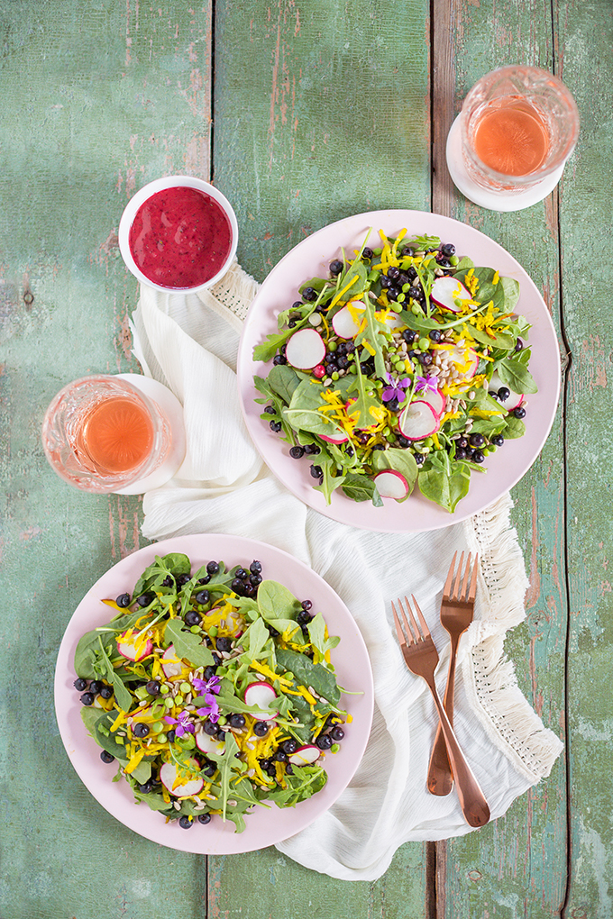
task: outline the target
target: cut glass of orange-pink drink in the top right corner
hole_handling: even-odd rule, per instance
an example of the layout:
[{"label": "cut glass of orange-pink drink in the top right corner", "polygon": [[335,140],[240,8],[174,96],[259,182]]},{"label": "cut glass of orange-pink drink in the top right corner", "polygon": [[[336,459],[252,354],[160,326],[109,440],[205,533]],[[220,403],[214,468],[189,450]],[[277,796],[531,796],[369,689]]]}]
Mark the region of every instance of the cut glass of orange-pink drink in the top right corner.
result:
[{"label": "cut glass of orange-pink drink in the top right corner", "polygon": [[464,99],[460,132],[473,182],[489,191],[522,193],[557,171],[562,175],[577,142],[579,112],[553,74],[539,67],[500,67]]}]

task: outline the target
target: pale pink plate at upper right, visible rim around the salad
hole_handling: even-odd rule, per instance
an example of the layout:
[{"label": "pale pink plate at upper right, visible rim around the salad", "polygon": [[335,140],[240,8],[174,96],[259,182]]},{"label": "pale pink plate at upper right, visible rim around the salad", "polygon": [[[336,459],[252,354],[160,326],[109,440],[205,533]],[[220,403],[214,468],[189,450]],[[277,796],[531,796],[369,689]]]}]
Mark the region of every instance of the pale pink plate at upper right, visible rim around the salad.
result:
[{"label": "pale pink plate at upper right, visible rim around the salad", "polygon": [[[394,236],[405,227],[408,233],[439,236],[444,243],[453,243],[458,255],[468,255],[475,265],[496,268],[501,275],[516,278],[521,287],[517,312],[532,323],[529,344],[532,346],[530,370],[539,392],[528,397],[526,434],[517,440],[507,440],[504,447],[487,458],[487,474],[473,472],[469,494],[460,501],[454,514],[426,501],[416,490],[398,504],[385,499],[383,507],[369,502],[357,503],[340,490],[325,504],[324,495],[312,488],[309,463],[306,459],[291,459],[289,445],[270,431],[260,418],[263,406],[255,403],[260,393],[255,390],[254,376],[266,377],[272,363],[254,361],[255,345],[278,331],[278,312],[286,310],[298,299],[298,288],[313,277],[325,278],[328,265],[340,255],[358,249],[369,228],[370,240],[377,245],[379,230]],[[528,471],[547,439],[553,423],[560,391],[560,355],[551,317],[528,274],[502,246],[460,221],[421,210],[374,210],[347,217],[313,233],[295,246],[268,275],[259,290],[244,322],[238,356],[238,380],[243,412],[249,433],[270,469],[289,491],[305,504],[326,516],[353,527],[384,532],[419,532],[448,527],[483,507],[509,490]]]}]

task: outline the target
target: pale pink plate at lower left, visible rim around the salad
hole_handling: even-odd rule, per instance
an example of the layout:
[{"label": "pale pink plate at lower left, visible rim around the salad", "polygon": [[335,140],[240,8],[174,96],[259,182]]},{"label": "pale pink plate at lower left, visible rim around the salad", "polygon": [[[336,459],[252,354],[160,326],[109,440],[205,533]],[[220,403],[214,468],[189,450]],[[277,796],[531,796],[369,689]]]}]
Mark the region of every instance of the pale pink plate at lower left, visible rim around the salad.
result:
[{"label": "pale pink plate at lower left, visible rim around the salad", "polygon": [[[150,811],[145,804],[137,805],[126,782],[111,781],[117,771],[116,764],[106,765],[100,760],[100,747],[85,731],[81,720],[80,694],[73,686],[77,641],[86,631],[108,622],[112,611],[101,603],[103,598],[131,592],[154,557],[168,552],[184,552],[192,562],[192,571],[211,560],[222,560],[231,567],[245,562],[249,565],[258,559],[265,577],[285,584],[301,599],[311,599],[314,609],[324,613],[330,634],[341,639],[332,652],[338,683],[351,692],[361,693],[343,697],[353,721],[346,729],[340,752],[326,756],[328,782],[324,789],[295,808],[257,807],[245,817],[244,833],[234,833],[234,824],[222,823],[219,817],[214,817],[206,826],[196,823],[191,829],[183,830],[176,822],[165,823],[164,817]],[[116,564],[96,581],[76,608],[64,633],[55,670],[55,711],[62,741],[85,787],[109,813],[136,833],[155,843],[202,855],[250,852],[274,845],[299,833],[327,811],[358,768],[369,739],[372,706],[372,673],[366,645],[356,622],[332,587],[287,552],[254,539],[234,536],[207,534],[165,539]]]}]

